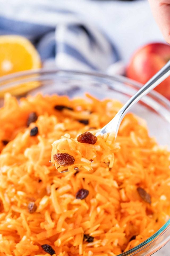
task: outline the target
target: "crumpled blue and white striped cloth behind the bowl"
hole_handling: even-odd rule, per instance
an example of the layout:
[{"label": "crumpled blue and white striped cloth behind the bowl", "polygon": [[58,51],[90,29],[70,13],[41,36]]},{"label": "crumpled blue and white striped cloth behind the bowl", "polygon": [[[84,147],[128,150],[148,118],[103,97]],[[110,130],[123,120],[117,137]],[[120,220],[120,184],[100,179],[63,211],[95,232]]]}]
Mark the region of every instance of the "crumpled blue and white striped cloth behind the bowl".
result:
[{"label": "crumpled blue and white striped cloth behind the bowl", "polygon": [[44,66],[61,69],[107,71],[119,61],[109,38],[78,13],[56,8],[55,1],[21,1],[0,7],[0,34],[20,34],[30,39]]}]

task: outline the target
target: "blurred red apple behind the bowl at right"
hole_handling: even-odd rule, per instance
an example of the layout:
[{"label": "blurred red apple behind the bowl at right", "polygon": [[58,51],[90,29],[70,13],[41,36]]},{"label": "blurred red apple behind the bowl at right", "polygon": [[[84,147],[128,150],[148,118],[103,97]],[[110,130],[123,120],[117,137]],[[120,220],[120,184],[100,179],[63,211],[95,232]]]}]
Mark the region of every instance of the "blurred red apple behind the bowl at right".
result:
[{"label": "blurred red apple behind the bowl at right", "polygon": [[[170,59],[170,45],[150,43],[138,49],[126,68],[126,76],[145,84]],[[170,77],[155,88],[170,99]]]}]

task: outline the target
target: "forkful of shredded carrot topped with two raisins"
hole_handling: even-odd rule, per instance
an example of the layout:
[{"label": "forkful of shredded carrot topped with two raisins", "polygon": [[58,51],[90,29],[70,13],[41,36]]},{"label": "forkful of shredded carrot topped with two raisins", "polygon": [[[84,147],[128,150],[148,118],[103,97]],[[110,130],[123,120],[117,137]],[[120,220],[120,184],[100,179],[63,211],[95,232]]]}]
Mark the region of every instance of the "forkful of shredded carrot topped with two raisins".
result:
[{"label": "forkful of shredded carrot topped with two raisins", "polygon": [[75,139],[71,138],[70,134],[65,134],[61,139],[53,142],[51,162],[59,172],[66,169],[74,171],[75,168],[90,171],[96,162],[109,163],[108,166],[111,168],[114,152],[119,149],[118,143],[114,142],[114,137],[114,133],[96,137],[92,131],[86,131]]}]

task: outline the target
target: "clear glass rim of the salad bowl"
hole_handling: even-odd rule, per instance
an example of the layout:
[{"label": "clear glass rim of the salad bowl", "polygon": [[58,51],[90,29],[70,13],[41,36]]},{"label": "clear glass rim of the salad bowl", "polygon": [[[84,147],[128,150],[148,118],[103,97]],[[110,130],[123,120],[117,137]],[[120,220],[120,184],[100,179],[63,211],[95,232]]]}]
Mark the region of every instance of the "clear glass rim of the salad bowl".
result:
[{"label": "clear glass rim of the salad bowl", "polygon": [[[104,78],[104,79],[108,79],[108,81],[112,81],[112,82],[120,82],[120,83],[127,83],[129,85],[131,85],[135,90],[138,90],[142,84],[139,82],[136,82],[132,79],[126,78],[124,76],[121,75],[107,75],[104,73],[99,73],[99,72],[81,72],[81,71],[76,71],[76,70],[64,70],[64,69],[37,69],[37,70],[27,70],[27,71],[21,71],[21,72],[17,72],[14,74],[9,74],[9,75],[5,75],[2,76],[0,78],[0,91],[10,88],[13,86],[13,82],[18,82],[18,81],[22,81],[22,82],[29,82],[29,81],[38,81],[37,78],[39,77],[43,77],[43,75],[58,75],[58,74],[65,74],[65,75],[83,75],[83,76],[88,76],[91,78]],[[32,78],[33,76],[33,78]],[[37,76],[37,78],[36,78]],[[24,79],[24,80],[22,80]],[[48,77],[48,79],[50,79]],[[51,77],[51,79],[54,79],[54,77]],[[41,80],[43,81],[43,79]],[[110,86],[110,84],[109,84]],[[125,85],[124,85],[125,86]],[[161,94],[159,94],[156,91],[151,91],[148,95],[150,95],[151,97],[153,97],[154,101],[159,101],[159,103],[163,106],[169,109],[170,111],[170,101],[168,99],[166,99],[164,96],[162,96]],[[156,240],[165,233],[165,231],[167,231],[168,229],[170,229],[170,219],[155,233],[153,234],[150,238],[148,238],[147,240],[145,240],[144,242],[140,243],[138,246],[135,246],[134,248],[121,253],[117,256],[133,256],[135,253],[139,253],[140,251],[142,251],[143,249],[145,249],[146,247],[148,247],[149,245],[151,245],[152,243],[156,242]],[[168,239],[166,239],[166,242],[162,241],[162,244],[159,246],[158,249],[160,249],[161,247],[163,247],[168,241],[170,240],[170,236]],[[157,250],[156,250],[157,251]],[[155,253],[155,251],[153,251],[152,253]]]}]

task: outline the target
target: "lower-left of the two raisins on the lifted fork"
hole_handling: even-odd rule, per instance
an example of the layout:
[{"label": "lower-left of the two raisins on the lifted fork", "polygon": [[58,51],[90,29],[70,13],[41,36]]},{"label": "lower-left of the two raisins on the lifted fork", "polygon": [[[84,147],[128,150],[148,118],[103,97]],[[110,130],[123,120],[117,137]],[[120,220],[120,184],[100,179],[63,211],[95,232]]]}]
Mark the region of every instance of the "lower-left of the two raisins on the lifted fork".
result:
[{"label": "lower-left of the two raisins on the lifted fork", "polygon": [[54,160],[61,166],[73,165],[75,159],[72,155],[67,153],[57,153],[54,156]]}]

